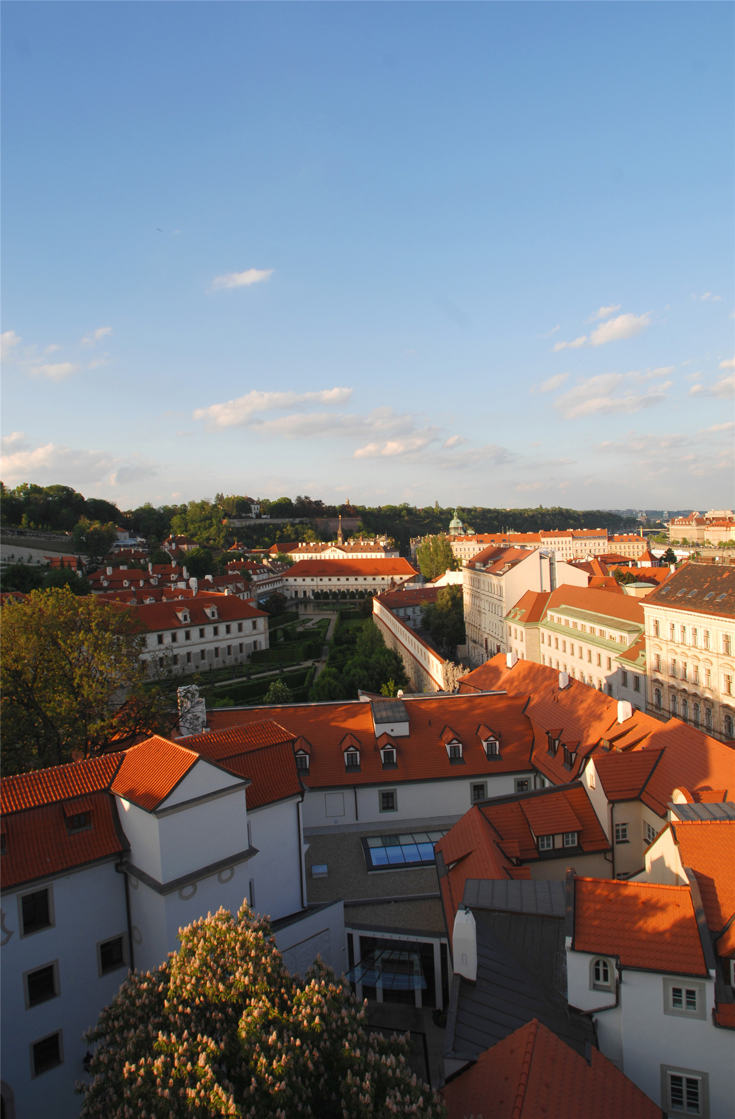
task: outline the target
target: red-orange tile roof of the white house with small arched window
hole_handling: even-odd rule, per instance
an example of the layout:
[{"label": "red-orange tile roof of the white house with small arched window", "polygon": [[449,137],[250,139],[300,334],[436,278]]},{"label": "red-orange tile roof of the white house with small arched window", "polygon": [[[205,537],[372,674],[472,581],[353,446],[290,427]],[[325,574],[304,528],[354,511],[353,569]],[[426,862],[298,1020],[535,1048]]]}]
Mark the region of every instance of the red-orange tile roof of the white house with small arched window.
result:
[{"label": "red-orange tile roof of the white house with small arched window", "polygon": [[574,880],[574,948],[623,967],[707,975],[688,886]]}]

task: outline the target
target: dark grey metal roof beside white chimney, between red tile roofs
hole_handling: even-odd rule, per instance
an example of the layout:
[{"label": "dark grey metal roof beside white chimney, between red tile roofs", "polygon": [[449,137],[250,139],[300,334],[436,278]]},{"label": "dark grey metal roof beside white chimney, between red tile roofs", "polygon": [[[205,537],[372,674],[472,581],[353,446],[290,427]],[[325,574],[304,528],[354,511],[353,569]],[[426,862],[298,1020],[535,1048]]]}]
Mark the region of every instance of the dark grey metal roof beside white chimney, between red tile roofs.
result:
[{"label": "dark grey metal roof beside white chimney, between red tile roofs", "polygon": [[[473,911],[478,937],[478,979],[454,976],[446,1023],[444,1056],[477,1061],[531,1018],[584,1056],[594,1045],[588,1017],[569,1009],[560,994],[566,987],[564,921],[528,914]],[[517,955],[506,937],[512,937]],[[519,958],[520,956],[520,958]],[[526,961],[536,965],[529,968]],[[554,976],[554,986],[549,984]]]}]

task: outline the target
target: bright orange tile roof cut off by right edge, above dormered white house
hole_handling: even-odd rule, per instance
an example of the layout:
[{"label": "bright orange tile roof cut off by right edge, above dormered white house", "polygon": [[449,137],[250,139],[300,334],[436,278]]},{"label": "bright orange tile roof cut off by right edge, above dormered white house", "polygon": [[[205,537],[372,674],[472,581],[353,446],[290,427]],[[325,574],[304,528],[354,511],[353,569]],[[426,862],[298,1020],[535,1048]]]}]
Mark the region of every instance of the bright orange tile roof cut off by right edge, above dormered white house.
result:
[{"label": "bright orange tile roof cut off by right edge, above dormered white house", "polygon": [[[735,820],[677,820],[670,824],[682,866],[697,876],[710,932],[722,932],[735,915]],[[735,951],[735,921],[717,941],[720,956]]]}]

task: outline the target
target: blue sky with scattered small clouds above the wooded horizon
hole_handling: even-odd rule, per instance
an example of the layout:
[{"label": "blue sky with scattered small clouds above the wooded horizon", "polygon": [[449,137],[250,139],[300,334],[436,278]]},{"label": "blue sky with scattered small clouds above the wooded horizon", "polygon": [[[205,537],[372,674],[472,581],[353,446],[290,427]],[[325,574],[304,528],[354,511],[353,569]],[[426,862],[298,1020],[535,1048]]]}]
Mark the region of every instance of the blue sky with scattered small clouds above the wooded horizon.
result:
[{"label": "blue sky with scattered small clouds above the wooded horizon", "polygon": [[732,507],[733,22],[6,0],[3,481]]}]

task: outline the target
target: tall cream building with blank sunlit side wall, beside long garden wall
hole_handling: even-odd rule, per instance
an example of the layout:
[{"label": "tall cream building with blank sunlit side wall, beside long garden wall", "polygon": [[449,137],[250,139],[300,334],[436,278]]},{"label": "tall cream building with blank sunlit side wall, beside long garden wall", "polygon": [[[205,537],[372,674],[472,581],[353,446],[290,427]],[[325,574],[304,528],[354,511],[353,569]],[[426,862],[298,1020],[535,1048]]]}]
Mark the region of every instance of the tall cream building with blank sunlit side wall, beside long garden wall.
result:
[{"label": "tall cream building with blank sunlit side wall, beside long garden wall", "polygon": [[462,587],[470,666],[508,651],[506,614],[527,591],[550,591],[560,583],[586,587],[587,573],[549,551],[491,546],[469,561]]}]

